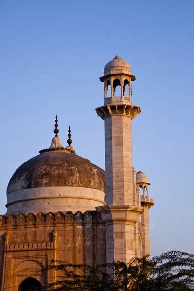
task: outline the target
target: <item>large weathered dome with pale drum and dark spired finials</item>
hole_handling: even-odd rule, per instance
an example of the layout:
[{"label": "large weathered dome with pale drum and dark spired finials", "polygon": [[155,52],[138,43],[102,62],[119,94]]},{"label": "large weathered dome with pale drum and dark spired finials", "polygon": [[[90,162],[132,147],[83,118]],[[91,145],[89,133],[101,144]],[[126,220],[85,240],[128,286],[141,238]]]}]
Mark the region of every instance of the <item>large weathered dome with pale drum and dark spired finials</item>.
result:
[{"label": "large weathered dome with pale drum and dark spired finials", "polygon": [[7,215],[38,212],[76,212],[95,210],[105,204],[105,172],[89,160],[76,155],[71,146],[64,148],[55,137],[49,149],[24,162],[7,187]]}]

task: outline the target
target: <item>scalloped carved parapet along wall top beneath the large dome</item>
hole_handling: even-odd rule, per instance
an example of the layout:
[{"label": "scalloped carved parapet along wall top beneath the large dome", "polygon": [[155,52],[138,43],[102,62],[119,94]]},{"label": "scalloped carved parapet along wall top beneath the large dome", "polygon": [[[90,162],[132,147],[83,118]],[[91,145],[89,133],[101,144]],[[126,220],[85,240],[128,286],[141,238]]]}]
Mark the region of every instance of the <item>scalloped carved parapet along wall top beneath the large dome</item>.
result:
[{"label": "scalloped carved parapet along wall top beneath the large dome", "polygon": [[56,225],[56,224],[97,224],[103,223],[100,213],[97,211],[86,211],[81,213],[77,211],[73,214],[71,211],[66,213],[38,213],[34,215],[29,213],[27,215],[19,214],[17,216],[10,214],[8,217],[0,215],[0,228],[14,226],[34,226],[34,225]]}]

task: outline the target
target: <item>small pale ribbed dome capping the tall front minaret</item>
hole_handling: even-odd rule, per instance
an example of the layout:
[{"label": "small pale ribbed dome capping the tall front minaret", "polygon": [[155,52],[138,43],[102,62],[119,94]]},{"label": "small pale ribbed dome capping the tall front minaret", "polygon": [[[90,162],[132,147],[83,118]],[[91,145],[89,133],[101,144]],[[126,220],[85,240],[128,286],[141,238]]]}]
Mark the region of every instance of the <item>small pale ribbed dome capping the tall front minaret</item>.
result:
[{"label": "small pale ribbed dome capping the tall front minaret", "polygon": [[104,67],[104,76],[116,73],[131,75],[131,67],[129,63],[119,56],[115,56],[115,58],[113,58],[112,61],[108,62]]}]

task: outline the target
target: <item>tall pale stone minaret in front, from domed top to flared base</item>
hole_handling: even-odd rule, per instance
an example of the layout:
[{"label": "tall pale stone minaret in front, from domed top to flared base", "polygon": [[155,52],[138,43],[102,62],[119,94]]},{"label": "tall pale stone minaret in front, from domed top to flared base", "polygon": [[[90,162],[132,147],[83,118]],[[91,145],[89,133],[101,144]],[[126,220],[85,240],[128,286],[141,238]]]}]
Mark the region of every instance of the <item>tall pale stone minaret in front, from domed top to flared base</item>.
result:
[{"label": "tall pale stone minaret in front, from domed top to flared base", "polygon": [[132,119],[141,112],[139,106],[132,105],[134,80],[129,63],[119,56],[105,65],[100,77],[104,105],[96,112],[105,121],[106,206],[96,209],[106,224],[107,262],[127,262],[142,254],[138,222],[143,208],[134,199],[132,167]]}]

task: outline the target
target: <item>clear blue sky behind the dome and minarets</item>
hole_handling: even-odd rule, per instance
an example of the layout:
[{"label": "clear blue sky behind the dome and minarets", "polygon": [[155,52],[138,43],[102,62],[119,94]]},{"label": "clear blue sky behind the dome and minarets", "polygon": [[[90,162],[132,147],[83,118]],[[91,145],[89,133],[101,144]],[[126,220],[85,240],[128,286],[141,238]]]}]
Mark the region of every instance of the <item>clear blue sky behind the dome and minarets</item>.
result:
[{"label": "clear blue sky behind the dome and minarets", "polygon": [[104,65],[136,75],[133,165],[147,174],[151,254],[194,252],[194,1],[0,1],[0,213],[23,162],[50,146],[58,114],[66,146],[104,168]]}]

